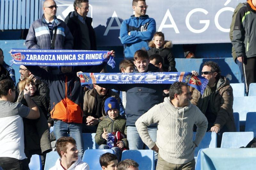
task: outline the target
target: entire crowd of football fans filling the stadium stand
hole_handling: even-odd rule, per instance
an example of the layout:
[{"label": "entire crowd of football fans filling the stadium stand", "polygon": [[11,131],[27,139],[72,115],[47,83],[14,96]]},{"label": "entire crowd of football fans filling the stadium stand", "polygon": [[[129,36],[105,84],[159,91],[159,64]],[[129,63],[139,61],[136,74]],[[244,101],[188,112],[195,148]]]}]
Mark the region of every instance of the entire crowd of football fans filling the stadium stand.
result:
[{"label": "entire crowd of football fans filling the stadium stand", "polygon": [[[172,43],[164,39],[162,32],[156,32],[156,22],[146,15],[147,8],[145,0],[133,0],[134,15],[122,22],[120,39],[124,60],[120,62],[120,72],[178,72]],[[256,0],[248,0],[247,6],[241,9],[232,44],[237,60],[244,62],[245,79],[250,77],[251,83],[255,76],[249,73],[255,73],[252,68],[255,69],[256,54],[253,49],[243,51],[242,34],[252,36],[244,28],[249,26],[241,25],[240,20],[248,10],[255,13]],[[56,10],[54,0],[44,1],[44,14],[29,28],[25,43],[28,49],[97,50],[92,18],[87,17],[88,0],[75,0],[75,11],[68,14],[65,22],[56,17]],[[113,50],[111,55],[115,57]],[[100,156],[104,170],[138,169],[138,163],[132,159],[120,161],[122,152],[129,149],[152,149],[157,170],[195,169],[194,150],[206,131],[217,133],[218,147],[224,132],[236,131],[233,90],[213,61],[205,62],[201,70],[200,75],[209,81],[201,94],[184,82],[81,86],[78,72],[105,73],[106,63],[59,67],[20,65],[20,81],[16,85],[14,70],[3,61],[1,49],[0,59],[0,166],[3,169],[27,170],[33,154],[41,155],[44,166],[46,153],[55,147],[60,158],[51,170],[89,169],[82,161],[86,142],[82,133],[96,133],[99,149],[114,151],[115,154]],[[196,71],[191,72],[198,75]],[[54,130],[50,134],[52,126]],[[56,145],[52,147],[54,140]]]}]

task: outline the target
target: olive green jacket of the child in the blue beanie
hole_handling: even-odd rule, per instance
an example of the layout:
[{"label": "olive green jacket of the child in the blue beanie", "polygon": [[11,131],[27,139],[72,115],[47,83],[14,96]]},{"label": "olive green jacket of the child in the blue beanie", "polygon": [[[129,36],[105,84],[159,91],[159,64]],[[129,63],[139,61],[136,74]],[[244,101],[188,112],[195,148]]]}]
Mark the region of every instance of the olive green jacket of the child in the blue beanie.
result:
[{"label": "olive green jacket of the child in the blue beanie", "polygon": [[[108,133],[120,131],[121,133],[124,133],[126,135],[126,118],[119,115],[118,117],[116,117],[115,120],[113,120],[108,116],[106,116],[106,118],[104,118],[99,123],[97,132],[95,135],[95,142],[98,145],[106,144],[107,142],[106,139],[103,139],[101,136],[103,133],[103,128],[105,128],[105,130]],[[127,138],[122,139],[122,141],[124,141],[124,145],[125,145],[124,147],[128,148]]]}]

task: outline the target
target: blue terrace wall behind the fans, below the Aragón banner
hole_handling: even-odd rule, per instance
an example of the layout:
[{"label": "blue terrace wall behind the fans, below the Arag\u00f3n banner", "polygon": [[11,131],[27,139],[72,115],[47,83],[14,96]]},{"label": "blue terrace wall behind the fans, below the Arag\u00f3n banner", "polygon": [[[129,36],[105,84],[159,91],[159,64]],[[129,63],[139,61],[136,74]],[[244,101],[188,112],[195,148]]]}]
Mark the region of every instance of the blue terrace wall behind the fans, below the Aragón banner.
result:
[{"label": "blue terrace wall behind the fans, below the Arag\u00f3n banner", "polygon": [[[8,64],[11,60],[9,51],[13,48],[23,48],[25,40],[0,40],[0,48],[4,52],[4,61]],[[218,62],[222,71],[222,75],[227,76],[232,83],[241,82],[239,69],[231,58],[231,43],[219,44],[197,44],[196,57],[198,59],[185,59],[182,45],[174,45],[172,51],[176,57],[176,68],[178,71],[201,71],[202,63],[207,60]],[[108,67],[108,72],[119,72],[119,62],[123,60],[123,46],[98,47],[98,50],[115,50],[116,51],[116,67],[112,69]],[[19,81],[19,66],[12,65],[15,70],[16,82]]]}]

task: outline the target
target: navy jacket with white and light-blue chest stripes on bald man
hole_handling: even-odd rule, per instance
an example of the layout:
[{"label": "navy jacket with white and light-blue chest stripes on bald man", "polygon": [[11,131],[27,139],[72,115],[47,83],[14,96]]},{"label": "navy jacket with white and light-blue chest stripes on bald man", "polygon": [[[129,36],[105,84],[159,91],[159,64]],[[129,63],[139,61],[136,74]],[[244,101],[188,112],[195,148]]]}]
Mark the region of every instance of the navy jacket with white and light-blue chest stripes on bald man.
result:
[{"label": "navy jacket with white and light-blue chest stripes on bald man", "polygon": [[[57,27],[57,35],[54,49],[72,49],[73,36],[68,26],[60,19],[54,18],[52,34],[54,35],[55,27]],[[53,37],[53,36],[52,36]],[[28,30],[25,42],[28,49],[51,49],[51,36],[47,22],[42,18],[33,22]]]}]

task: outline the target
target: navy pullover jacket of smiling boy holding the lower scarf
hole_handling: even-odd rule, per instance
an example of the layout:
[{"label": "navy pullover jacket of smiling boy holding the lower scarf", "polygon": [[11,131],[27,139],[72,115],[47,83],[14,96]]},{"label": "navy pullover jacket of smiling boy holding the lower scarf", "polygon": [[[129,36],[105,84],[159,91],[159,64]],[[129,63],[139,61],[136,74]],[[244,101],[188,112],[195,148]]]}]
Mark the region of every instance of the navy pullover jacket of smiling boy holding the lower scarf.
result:
[{"label": "navy pullover jacket of smiling boy holding the lower scarf", "polygon": [[[137,72],[138,71],[133,71]],[[149,72],[159,72],[153,64],[148,65]],[[126,91],[126,126],[135,126],[136,120],[156,104],[163,102],[163,90],[169,84],[99,84],[100,87]],[[151,124],[156,126],[156,124]]]}]

